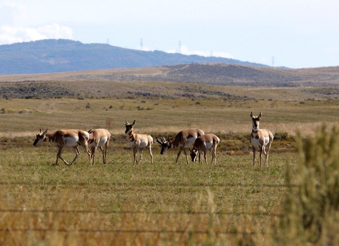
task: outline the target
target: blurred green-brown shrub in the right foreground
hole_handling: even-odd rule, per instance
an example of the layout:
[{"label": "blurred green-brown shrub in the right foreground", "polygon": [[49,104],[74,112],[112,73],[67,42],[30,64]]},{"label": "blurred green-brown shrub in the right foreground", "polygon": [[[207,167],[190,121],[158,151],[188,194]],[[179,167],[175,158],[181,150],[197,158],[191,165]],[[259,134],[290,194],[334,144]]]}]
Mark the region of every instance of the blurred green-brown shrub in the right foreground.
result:
[{"label": "blurred green-brown shrub in the right foreground", "polygon": [[339,245],[339,130],[326,125],[298,136],[296,189],[287,165],[284,212],[277,243]]}]

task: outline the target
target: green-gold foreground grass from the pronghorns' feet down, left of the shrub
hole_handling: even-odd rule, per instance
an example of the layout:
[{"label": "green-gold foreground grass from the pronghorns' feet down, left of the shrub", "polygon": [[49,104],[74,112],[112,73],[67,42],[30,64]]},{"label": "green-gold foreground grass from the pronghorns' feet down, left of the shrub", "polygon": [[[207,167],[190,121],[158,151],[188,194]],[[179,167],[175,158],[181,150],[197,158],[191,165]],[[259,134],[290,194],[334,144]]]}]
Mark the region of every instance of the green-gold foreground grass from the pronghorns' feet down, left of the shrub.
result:
[{"label": "green-gold foreground grass from the pronghorns' feet down, left of the shrub", "polygon": [[[54,149],[39,148],[10,149],[1,156],[0,226],[13,228],[0,232],[2,243],[68,244],[74,238],[78,244],[93,244],[102,234],[100,244],[122,238],[123,244],[159,244],[166,237],[170,245],[187,240],[194,245],[236,241],[243,230],[260,235],[275,218],[268,214],[281,205],[284,166],[290,159],[272,155],[270,168],[261,168],[252,166],[251,155],[218,153],[217,165],[187,165],[184,157],[174,164],[176,152],[169,151],[155,154],[154,164],[145,152],[141,164],[133,165],[132,151],[126,150],[110,153],[105,165],[98,156],[90,166],[82,152],[76,164],[54,167],[55,156]],[[72,157],[65,151],[64,158]],[[32,231],[15,231],[20,228]],[[36,231],[43,228],[47,231]],[[200,233],[191,235],[194,231]]]}]

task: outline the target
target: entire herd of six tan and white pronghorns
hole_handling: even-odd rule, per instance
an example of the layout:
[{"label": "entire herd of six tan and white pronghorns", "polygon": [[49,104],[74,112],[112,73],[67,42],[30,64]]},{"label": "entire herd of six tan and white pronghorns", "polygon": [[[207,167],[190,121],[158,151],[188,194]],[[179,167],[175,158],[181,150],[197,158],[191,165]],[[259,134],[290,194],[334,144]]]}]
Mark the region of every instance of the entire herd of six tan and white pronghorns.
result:
[{"label": "entire herd of six tan and white pronghorns", "polygon": [[[259,156],[260,156],[260,165],[262,166],[261,156],[262,152],[265,154],[265,162],[264,166],[267,166],[268,160],[268,152],[270,150],[272,141],[273,141],[273,134],[267,129],[259,129],[259,119],[262,116],[260,112],[259,116],[254,116],[251,112],[250,114],[252,118],[252,133],[250,136],[250,142],[253,149],[253,165],[255,164],[255,152],[256,149],[259,149]],[[136,121],[134,120],[132,124],[129,124],[127,120],[125,121],[126,131],[125,133],[128,134],[130,139],[130,146],[133,149],[133,156],[134,156],[134,164],[139,164],[142,159],[142,150],[147,148],[149,154],[151,156],[151,163],[153,164],[153,155],[152,155],[152,143],[153,137],[145,134],[137,134],[134,132],[134,125]],[[106,153],[110,143],[111,133],[106,129],[93,129],[85,132],[79,129],[68,129],[68,130],[57,130],[54,133],[47,133],[48,129],[45,132],[40,132],[36,135],[36,139],[33,143],[34,146],[39,145],[42,142],[54,142],[57,144],[58,151],[57,151],[57,161],[53,165],[57,165],[58,159],[63,161],[67,165],[73,164],[78,156],[80,155],[79,152],[79,145],[83,146],[88,154],[89,164],[94,164],[94,156],[97,148],[99,147],[102,151],[103,155],[103,163],[107,163]],[[210,150],[212,154],[211,164],[217,164],[217,155],[216,150],[217,146],[220,142],[220,138],[214,134],[205,134],[198,128],[191,128],[180,131],[175,137],[167,138],[165,140],[163,137],[160,139],[157,137],[156,141],[161,146],[160,154],[163,155],[165,152],[170,148],[179,147],[179,152],[176,157],[175,163],[178,162],[179,156],[181,151],[184,151],[186,156],[187,164],[189,163],[189,159],[186,153],[186,147],[193,145],[193,148],[189,148],[190,155],[192,162],[197,161],[197,157],[200,163],[200,155],[203,153],[205,163],[207,164],[206,160],[206,151]],[[75,157],[71,163],[66,162],[61,157],[61,152],[63,147],[73,147],[75,150]],[[266,151],[267,146],[267,151]],[[89,147],[91,150],[89,150]],[[137,161],[137,152],[140,154],[140,159]]]}]

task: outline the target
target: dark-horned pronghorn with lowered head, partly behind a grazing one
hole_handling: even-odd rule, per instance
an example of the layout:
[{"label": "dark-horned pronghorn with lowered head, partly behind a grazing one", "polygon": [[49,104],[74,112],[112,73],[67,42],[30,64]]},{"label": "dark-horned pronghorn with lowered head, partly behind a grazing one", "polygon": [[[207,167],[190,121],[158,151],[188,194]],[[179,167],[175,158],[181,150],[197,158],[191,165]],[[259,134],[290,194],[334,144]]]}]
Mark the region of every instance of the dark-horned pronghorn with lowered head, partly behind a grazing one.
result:
[{"label": "dark-horned pronghorn with lowered head, partly behind a grazing one", "polygon": [[202,135],[204,135],[204,132],[201,131],[200,129],[191,128],[191,129],[182,130],[175,137],[172,137],[170,139],[168,138],[167,140],[165,140],[164,138],[161,138],[161,140],[159,140],[158,137],[157,137],[157,142],[160,143],[160,145],[161,145],[160,154],[164,155],[166,150],[168,150],[170,148],[176,148],[176,147],[179,146],[180,149],[179,149],[178,155],[176,157],[175,163],[178,162],[178,158],[181,154],[181,151],[184,151],[185,156],[186,156],[186,161],[187,161],[187,164],[188,164],[189,161],[188,161],[188,157],[187,157],[185,147],[192,145],[194,143],[194,141],[197,139],[197,137],[200,137]]}]

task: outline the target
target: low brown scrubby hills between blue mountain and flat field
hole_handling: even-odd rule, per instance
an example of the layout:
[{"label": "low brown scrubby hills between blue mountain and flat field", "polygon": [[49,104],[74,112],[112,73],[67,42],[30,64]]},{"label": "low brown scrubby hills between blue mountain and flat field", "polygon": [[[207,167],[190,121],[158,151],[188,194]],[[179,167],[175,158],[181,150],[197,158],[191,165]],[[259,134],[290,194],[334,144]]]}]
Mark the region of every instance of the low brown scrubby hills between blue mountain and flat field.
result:
[{"label": "low brown scrubby hills between blue mountain and flat field", "polygon": [[279,69],[226,63],[2,75],[1,98],[336,99],[339,67]]}]

